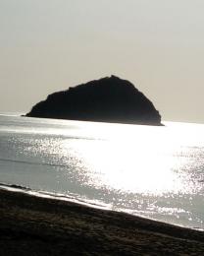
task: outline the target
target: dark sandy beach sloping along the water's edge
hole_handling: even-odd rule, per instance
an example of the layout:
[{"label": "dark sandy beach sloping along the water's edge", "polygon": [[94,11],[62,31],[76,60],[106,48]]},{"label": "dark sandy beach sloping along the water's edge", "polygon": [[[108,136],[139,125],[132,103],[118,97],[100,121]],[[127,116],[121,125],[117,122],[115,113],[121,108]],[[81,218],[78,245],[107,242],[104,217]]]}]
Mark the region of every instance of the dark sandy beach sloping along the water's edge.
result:
[{"label": "dark sandy beach sloping along the water's edge", "polygon": [[0,189],[0,255],[204,255],[204,232]]}]

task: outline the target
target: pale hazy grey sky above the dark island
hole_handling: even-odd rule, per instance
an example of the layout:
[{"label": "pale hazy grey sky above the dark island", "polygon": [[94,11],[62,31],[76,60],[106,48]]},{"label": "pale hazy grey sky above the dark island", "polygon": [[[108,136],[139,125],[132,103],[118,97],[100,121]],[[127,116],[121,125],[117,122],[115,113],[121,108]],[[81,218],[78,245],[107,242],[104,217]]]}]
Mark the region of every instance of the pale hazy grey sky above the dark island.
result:
[{"label": "pale hazy grey sky above the dark island", "polygon": [[0,111],[117,75],[204,123],[203,0],[0,0]]}]

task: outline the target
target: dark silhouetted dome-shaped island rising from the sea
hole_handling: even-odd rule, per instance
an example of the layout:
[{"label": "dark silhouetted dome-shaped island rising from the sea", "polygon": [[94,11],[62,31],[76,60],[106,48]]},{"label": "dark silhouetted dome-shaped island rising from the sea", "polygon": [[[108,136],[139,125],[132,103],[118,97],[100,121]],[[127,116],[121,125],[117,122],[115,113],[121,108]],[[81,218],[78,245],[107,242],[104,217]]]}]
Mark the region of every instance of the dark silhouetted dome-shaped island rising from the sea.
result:
[{"label": "dark silhouetted dome-shaped island rising from the sea", "polygon": [[49,95],[26,116],[161,125],[153,103],[130,82],[115,76]]}]

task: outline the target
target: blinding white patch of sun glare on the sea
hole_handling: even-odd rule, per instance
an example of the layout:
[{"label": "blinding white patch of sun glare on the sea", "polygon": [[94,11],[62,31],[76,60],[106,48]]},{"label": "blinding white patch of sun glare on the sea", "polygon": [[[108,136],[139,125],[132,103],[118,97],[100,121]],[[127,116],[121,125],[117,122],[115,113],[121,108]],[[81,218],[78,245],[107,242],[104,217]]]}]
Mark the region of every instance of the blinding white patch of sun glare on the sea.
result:
[{"label": "blinding white patch of sun glare on the sea", "polygon": [[[97,127],[102,139],[73,141],[87,185],[153,195],[192,192],[193,181],[189,182],[186,172],[189,152],[181,147],[180,134],[167,133],[165,127],[117,128],[102,125]],[[96,130],[89,132],[96,136]],[[65,152],[68,147],[70,141],[68,145],[65,141]]]}]

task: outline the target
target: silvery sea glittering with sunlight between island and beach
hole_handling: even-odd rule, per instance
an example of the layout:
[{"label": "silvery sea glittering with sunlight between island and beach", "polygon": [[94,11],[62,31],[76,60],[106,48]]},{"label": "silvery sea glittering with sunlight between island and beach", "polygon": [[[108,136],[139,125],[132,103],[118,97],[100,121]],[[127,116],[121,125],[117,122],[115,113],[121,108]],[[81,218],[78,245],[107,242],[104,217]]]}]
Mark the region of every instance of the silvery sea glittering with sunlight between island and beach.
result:
[{"label": "silvery sea glittering with sunlight between island and beach", "polygon": [[204,125],[0,115],[0,182],[204,229]]}]

